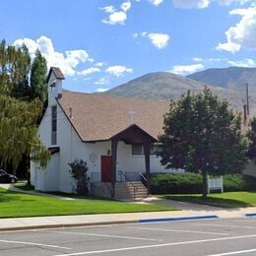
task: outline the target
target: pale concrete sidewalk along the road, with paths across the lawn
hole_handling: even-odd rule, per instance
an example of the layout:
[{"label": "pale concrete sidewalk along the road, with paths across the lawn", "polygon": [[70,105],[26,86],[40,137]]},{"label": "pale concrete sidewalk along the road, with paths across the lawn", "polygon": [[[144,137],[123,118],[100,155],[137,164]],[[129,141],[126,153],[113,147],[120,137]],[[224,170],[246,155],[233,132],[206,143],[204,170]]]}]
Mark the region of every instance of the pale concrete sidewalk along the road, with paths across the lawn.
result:
[{"label": "pale concrete sidewalk along the road, with paths across the lawn", "polygon": [[[1,184],[2,186],[2,184]],[[7,189],[19,191],[20,189],[8,187]],[[24,193],[25,191],[23,191]],[[27,193],[40,194],[44,196],[53,195],[39,192],[27,191]],[[59,196],[53,196],[59,197]],[[67,199],[67,198],[65,198]],[[73,199],[73,198],[71,198]],[[99,224],[129,224],[143,222],[178,221],[180,219],[209,219],[209,218],[244,218],[246,215],[256,216],[256,207],[222,209],[211,206],[196,205],[171,200],[149,197],[143,200],[136,200],[137,203],[154,203],[182,208],[182,211],[170,212],[148,212],[128,214],[99,214],[99,215],[77,215],[77,216],[50,216],[32,218],[10,218],[0,219],[0,231],[19,230],[32,228],[67,227]]]}]

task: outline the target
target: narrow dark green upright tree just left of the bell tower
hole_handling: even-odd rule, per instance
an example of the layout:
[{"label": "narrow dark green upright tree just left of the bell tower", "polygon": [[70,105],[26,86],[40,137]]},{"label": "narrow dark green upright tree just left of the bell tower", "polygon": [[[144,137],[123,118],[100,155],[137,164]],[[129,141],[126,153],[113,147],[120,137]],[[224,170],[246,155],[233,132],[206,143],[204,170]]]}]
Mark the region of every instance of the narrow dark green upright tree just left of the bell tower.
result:
[{"label": "narrow dark green upright tree just left of the bell tower", "polygon": [[32,62],[31,73],[31,96],[38,97],[45,104],[47,99],[47,63],[45,58],[37,49]]}]

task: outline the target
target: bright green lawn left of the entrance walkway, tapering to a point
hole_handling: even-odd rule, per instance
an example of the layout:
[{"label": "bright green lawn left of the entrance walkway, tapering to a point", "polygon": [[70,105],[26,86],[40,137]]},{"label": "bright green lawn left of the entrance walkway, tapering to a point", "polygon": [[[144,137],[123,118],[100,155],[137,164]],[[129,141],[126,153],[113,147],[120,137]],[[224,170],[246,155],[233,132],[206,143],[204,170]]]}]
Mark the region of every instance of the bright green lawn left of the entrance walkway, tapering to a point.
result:
[{"label": "bright green lawn left of the entrance walkway, tapering to a point", "polygon": [[0,218],[173,211],[176,208],[107,200],[63,200],[0,188]]}]

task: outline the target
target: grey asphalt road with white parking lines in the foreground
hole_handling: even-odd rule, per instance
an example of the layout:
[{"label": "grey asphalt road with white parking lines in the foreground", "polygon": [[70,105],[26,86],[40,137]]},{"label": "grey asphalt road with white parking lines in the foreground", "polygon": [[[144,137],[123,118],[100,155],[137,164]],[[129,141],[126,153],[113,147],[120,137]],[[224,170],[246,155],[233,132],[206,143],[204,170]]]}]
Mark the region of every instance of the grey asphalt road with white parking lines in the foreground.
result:
[{"label": "grey asphalt road with white parking lines in the foreground", "polygon": [[0,232],[0,255],[88,254],[256,255],[256,218]]}]

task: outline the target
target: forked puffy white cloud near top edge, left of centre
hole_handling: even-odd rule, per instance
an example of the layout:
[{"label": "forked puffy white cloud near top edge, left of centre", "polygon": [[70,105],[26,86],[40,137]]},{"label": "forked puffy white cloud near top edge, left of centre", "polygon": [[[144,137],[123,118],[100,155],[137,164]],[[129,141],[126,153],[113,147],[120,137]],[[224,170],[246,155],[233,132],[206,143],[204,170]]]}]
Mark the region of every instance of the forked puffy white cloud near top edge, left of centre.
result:
[{"label": "forked puffy white cloud near top edge, left of centre", "polygon": [[113,6],[105,6],[100,8],[105,13],[109,14],[107,19],[102,20],[101,22],[109,25],[124,25],[127,20],[126,12],[130,10],[132,4],[130,1],[123,2],[120,6],[119,11],[117,11]]}]

